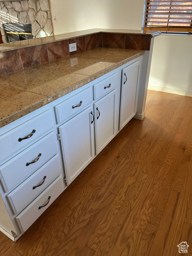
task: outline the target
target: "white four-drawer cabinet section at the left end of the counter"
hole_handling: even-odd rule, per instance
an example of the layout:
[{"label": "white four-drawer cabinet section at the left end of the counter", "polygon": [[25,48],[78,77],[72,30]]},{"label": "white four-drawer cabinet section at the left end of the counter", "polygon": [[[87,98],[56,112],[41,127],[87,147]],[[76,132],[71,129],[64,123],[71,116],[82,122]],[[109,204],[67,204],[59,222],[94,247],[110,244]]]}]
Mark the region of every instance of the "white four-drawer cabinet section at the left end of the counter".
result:
[{"label": "white four-drawer cabinet section at the left end of the counter", "polygon": [[[66,187],[53,120],[46,105],[0,129],[0,231],[13,241]],[[46,191],[49,203],[33,208],[46,204]]]}]

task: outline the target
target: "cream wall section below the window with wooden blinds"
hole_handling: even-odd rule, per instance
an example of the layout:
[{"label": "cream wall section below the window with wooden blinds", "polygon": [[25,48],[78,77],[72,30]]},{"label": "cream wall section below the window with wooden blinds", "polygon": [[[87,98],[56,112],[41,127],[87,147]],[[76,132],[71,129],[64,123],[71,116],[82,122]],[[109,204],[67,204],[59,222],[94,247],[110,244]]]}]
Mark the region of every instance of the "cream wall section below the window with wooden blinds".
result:
[{"label": "cream wall section below the window with wooden blinds", "polygon": [[149,88],[192,96],[192,36],[155,38]]}]

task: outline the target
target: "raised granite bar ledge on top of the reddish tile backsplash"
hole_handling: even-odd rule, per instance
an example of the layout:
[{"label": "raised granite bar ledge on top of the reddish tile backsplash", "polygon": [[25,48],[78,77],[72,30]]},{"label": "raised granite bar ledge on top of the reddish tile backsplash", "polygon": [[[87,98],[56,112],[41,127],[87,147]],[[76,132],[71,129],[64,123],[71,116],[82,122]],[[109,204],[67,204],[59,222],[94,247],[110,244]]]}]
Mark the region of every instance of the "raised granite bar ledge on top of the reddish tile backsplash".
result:
[{"label": "raised granite bar ledge on top of the reddish tile backsplash", "polygon": [[101,28],[93,28],[69,33],[63,33],[54,36],[40,37],[34,39],[28,39],[23,41],[10,42],[8,44],[0,44],[0,52],[30,47],[34,45],[41,45],[50,42],[62,41],[70,38],[75,38],[79,36],[97,34],[97,33],[115,33],[115,34],[134,34],[134,35],[151,35],[152,37],[156,37],[161,34],[160,31],[152,31],[152,30],[130,30],[130,29],[101,29]]}]

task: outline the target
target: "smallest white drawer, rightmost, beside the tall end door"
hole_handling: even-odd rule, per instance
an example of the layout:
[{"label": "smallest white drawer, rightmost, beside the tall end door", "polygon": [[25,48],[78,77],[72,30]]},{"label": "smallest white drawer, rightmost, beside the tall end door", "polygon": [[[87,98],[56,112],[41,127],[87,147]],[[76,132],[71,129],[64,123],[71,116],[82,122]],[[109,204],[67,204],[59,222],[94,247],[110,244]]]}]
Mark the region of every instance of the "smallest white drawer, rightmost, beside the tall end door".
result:
[{"label": "smallest white drawer, rightmost, beside the tall end door", "polygon": [[94,100],[110,92],[117,86],[118,74],[115,73],[94,85]]}]

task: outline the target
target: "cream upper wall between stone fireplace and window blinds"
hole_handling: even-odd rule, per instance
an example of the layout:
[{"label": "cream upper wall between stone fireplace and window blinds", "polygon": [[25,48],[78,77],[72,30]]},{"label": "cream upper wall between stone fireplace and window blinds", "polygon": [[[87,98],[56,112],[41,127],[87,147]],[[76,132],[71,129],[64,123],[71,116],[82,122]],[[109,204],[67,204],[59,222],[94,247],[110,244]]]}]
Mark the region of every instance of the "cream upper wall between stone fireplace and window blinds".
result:
[{"label": "cream upper wall between stone fireplace and window blinds", "polygon": [[50,4],[57,20],[53,23],[55,35],[90,28],[142,26],[144,0],[50,0]]}]

